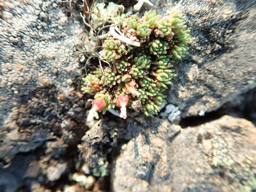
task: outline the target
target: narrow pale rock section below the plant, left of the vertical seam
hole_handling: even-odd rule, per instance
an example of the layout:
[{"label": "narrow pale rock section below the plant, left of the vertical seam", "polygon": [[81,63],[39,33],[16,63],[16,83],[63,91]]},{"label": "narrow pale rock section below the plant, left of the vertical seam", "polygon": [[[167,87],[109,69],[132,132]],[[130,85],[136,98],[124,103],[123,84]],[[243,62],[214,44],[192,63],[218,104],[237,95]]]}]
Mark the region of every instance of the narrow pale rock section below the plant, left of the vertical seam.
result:
[{"label": "narrow pale rock section below the plant, left of the vertical seam", "polygon": [[[168,179],[170,167],[166,156],[180,129],[179,125],[157,118],[137,118],[135,122],[128,119],[123,138],[130,141],[121,150],[112,170],[114,191],[150,191],[155,172],[162,172],[163,180]],[[158,169],[166,170],[158,172]]]}]

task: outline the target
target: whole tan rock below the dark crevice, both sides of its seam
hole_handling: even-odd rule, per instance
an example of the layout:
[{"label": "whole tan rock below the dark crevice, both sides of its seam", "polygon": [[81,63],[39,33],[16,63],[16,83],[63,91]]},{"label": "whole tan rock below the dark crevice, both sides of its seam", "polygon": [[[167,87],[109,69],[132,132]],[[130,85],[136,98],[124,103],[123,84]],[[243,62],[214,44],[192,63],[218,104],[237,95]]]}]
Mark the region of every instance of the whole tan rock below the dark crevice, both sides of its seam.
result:
[{"label": "whole tan rock below the dark crevice, both sides of its seam", "polygon": [[245,119],[223,116],[187,129],[129,119],[127,135],[132,139],[116,159],[114,191],[256,189],[256,127]]}]

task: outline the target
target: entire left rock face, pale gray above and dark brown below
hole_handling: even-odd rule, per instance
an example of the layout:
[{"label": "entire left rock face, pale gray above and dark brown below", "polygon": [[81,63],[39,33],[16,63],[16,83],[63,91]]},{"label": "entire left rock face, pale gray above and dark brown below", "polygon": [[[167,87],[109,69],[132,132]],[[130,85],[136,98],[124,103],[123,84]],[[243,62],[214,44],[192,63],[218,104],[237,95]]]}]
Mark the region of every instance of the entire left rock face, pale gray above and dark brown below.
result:
[{"label": "entire left rock face, pale gray above and dark brown below", "polygon": [[55,0],[0,2],[1,191],[52,186],[74,167],[90,105],[73,82],[83,27],[67,10]]}]

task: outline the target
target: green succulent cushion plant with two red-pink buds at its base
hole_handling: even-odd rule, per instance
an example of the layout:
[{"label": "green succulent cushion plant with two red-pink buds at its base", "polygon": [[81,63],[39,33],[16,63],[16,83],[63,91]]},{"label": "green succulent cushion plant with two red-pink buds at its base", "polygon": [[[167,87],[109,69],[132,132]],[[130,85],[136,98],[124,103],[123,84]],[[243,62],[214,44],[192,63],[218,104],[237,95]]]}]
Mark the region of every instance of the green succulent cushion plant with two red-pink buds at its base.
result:
[{"label": "green succulent cushion plant with two red-pink buds at its base", "polygon": [[170,62],[188,54],[190,30],[184,19],[177,11],[163,17],[155,10],[142,18],[123,15],[116,23],[118,35],[110,33],[102,45],[101,60],[108,65],[83,78],[82,90],[101,98],[92,103],[93,109],[105,113],[117,106],[126,118],[126,107],[135,109],[132,103],[139,101],[143,113],[158,114],[165,102],[163,92],[176,76]]}]

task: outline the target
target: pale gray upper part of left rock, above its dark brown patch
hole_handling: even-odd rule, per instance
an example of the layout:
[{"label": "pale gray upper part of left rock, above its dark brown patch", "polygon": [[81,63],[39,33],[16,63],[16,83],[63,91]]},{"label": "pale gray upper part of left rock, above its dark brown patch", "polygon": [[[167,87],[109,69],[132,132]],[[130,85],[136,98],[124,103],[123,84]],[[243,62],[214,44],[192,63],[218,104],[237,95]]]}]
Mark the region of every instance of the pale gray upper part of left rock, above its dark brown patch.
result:
[{"label": "pale gray upper part of left rock, above its dark brown patch", "polygon": [[67,18],[55,0],[5,1],[0,11],[2,127],[36,89],[54,85],[57,95],[66,97],[74,90],[71,83],[79,65],[73,54],[82,43],[83,28],[77,19]]}]

